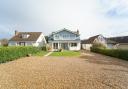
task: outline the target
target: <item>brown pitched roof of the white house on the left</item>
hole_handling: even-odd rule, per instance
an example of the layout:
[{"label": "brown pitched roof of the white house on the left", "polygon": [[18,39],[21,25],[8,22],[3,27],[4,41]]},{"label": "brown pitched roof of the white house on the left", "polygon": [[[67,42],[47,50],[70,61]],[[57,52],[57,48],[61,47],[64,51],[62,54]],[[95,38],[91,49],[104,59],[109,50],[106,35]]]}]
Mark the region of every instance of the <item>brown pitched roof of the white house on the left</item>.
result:
[{"label": "brown pitched roof of the white house on the left", "polygon": [[[22,34],[29,34],[30,36],[28,38],[22,38]],[[37,41],[41,34],[42,32],[18,32],[9,41]]]}]

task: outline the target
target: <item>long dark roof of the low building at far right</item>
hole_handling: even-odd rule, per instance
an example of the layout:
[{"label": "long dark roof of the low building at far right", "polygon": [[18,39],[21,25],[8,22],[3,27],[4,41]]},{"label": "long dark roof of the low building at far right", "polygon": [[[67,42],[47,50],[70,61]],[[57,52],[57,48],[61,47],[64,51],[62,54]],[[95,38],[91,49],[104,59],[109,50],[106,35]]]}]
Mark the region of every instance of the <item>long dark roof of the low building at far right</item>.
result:
[{"label": "long dark roof of the low building at far right", "polygon": [[107,38],[107,39],[115,41],[117,43],[128,43],[128,36],[110,37],[110,38]]}]

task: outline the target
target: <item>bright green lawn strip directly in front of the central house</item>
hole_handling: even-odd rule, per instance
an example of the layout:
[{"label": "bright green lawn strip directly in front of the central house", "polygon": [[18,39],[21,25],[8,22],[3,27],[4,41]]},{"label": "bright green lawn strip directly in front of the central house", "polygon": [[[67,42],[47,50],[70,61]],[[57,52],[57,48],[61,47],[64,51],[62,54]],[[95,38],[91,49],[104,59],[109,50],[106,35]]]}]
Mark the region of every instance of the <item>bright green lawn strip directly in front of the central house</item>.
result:
[{"label": "bright green lawn strip directly in front of the central house", "polygon": [[67,56],[67,57],[80,56],[80,52],[79,51],[53,52],[50,56]]}]

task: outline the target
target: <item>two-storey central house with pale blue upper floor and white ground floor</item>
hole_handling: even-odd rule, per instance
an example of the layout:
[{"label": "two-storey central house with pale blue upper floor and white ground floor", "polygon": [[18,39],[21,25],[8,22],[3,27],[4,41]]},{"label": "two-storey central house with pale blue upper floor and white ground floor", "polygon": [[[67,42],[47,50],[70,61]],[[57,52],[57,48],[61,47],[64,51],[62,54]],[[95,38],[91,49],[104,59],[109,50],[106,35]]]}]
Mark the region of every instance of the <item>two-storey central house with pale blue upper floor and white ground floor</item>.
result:
[{"label": "two-storey central house with pale blue upper floor and white ground floor", "polygon": [[80,50],[79,30],[70,31],[64,28],[62,30],[52,32],[48,37],[48,43],[52,51],[57,51],[58,49]]}]

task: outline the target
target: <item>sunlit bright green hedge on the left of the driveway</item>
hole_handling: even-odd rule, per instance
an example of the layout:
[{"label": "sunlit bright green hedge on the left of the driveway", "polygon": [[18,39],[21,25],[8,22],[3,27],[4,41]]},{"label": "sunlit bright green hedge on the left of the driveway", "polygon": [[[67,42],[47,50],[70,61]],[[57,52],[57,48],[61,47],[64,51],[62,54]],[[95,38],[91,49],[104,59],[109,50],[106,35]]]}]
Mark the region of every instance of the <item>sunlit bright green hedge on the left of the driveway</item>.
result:
[{"label": "sunlit bright green hedge on the left of the driveway", "polygon": [[25,57],[28,54],[39,52],[37,47],[1,47],[0,48],[0,63],[12,61],[20,57]]}]

